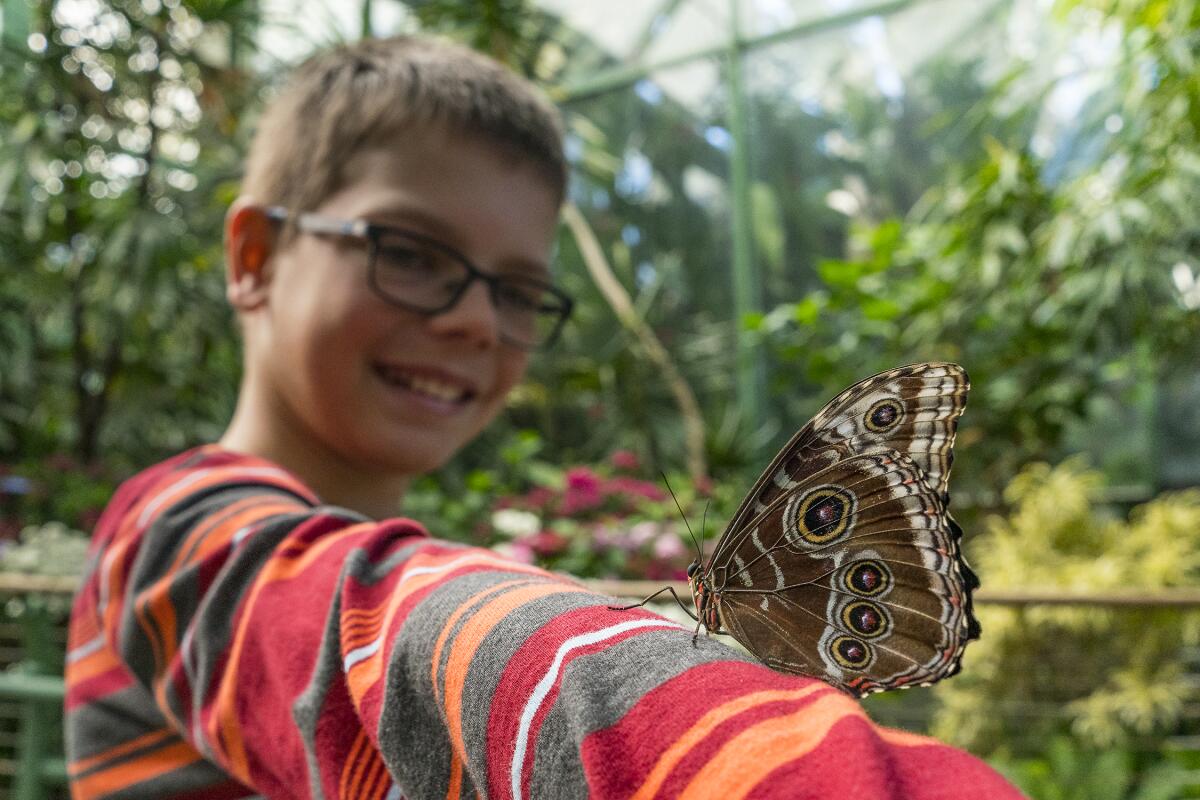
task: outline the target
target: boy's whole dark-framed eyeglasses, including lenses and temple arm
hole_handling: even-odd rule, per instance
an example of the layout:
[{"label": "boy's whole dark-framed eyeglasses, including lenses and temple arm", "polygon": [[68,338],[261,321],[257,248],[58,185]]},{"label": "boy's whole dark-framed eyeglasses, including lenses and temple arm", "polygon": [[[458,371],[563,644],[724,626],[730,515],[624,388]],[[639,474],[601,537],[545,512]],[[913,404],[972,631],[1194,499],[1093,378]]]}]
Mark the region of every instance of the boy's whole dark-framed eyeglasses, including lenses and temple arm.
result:
[{"label": "boy's whole dark-framed eyeglasses, including lenses and temple arm", "polygon": [[436,239],[365,219],[334,219],[318,213],[266,209],[271,219],[292,219],[308,234],[349,236],[367,242],[367,281],[388,302],[420,314],[454,308],[475,281],[487,284],[499,320],[500,341],[522,350],[548,347],[575,302],[538,278],[488,275]]}]

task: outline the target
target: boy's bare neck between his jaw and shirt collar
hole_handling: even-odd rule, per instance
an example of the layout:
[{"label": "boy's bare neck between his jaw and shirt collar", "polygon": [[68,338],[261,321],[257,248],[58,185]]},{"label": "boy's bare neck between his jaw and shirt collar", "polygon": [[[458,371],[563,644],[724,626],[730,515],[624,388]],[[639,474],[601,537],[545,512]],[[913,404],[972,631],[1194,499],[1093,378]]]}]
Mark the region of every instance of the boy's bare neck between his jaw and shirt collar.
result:
[{"label": "boy's bare neck between his jaw and shirt collar", "polygon": [[220,444],[227,450],[271,461],[299,477],[322,503],[372,519],[395,517],[408,488],[407,475],[389,475],[355,464],[310,433],[287,409],[266,409],[242,391]]}]

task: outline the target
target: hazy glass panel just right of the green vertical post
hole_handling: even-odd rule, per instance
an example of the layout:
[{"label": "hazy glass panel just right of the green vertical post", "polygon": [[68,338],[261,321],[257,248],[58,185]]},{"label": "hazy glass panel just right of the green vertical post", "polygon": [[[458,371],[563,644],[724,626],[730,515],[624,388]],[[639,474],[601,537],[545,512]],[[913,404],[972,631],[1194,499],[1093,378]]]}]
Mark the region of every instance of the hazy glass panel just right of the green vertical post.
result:
[{"label": "hazy glass panel just right of the green vertical post", "polygon": [[[988,7],[924,0],[746,56],[768,308],[811,288],[820,260],[844,257],[851,221],[904,215],[962,148],[980,146],[937,126],[988,91],[985,55],[1004,31]],[[962,41],[970,52],[955,53]]]}]

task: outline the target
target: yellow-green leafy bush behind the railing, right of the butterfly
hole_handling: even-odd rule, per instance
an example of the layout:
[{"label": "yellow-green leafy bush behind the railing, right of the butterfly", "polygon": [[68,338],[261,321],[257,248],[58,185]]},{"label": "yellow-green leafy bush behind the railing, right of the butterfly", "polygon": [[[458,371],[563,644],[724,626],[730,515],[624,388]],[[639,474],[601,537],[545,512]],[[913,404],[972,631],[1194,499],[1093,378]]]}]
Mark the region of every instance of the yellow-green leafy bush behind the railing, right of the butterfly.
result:
[{"label": "yellow-green leafy bush behind the railing, right of the butterfly", "polygon": [[[1200,584],[1200,491],[1164,494],[1120,519],[1092,498],[1100,476],[1036,464],[1006,491],[973,563],[991,590],[1154,590]],[[1040,752],[1069,730],[1096,748],[1160,736],[1194,697],[1183,649],[1200,619],[1171,609],[983,608],[983,638],[938,692],[934,732],[977,752]],[[1054,716],[1038,710],[1058,709]]]}]

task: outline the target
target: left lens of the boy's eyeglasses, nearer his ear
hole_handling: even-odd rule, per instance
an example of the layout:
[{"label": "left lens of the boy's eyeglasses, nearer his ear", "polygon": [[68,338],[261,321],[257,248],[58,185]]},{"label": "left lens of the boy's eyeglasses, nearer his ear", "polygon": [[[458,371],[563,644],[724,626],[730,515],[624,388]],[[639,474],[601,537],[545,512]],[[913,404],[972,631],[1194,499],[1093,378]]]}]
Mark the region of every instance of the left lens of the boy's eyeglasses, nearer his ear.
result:
[{"label": "left lens of the boy's eyeglasses, nearer his ear", "polygon": [[379,236],[373,277],[379,291],[392,300],[437,311],[454,299],[469,273],[449,253],[431,243],[388,233]]}]

